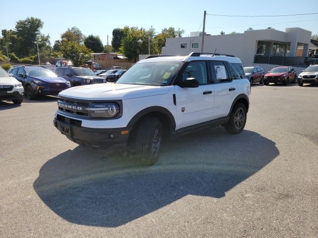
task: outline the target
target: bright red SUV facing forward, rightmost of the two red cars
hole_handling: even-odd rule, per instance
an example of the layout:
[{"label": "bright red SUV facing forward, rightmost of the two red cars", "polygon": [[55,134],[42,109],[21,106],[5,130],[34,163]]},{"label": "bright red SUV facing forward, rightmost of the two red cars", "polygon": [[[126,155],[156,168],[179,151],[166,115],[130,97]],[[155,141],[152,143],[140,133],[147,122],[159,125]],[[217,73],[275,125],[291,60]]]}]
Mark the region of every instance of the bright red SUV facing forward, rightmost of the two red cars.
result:
[{"label": "bright red SUV facing forward, rightmost of the two red cars", "polygon": [[296,83],[297,74],[292,66],[277,66],[264,75],[264,85],[269,83]]}]

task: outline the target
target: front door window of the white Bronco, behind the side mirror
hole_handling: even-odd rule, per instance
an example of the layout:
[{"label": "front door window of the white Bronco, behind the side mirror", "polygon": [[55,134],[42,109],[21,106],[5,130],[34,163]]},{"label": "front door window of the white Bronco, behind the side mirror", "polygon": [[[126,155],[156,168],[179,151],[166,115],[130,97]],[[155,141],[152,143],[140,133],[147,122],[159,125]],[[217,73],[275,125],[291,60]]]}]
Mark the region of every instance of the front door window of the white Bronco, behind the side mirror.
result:
[{"label": "front door window of the white Bronco, behind the side mirror", "polygon": [[190,62],[182,73],[182,78],[196,78],[200,85],[208,83],[207,66],[205,61]]}]

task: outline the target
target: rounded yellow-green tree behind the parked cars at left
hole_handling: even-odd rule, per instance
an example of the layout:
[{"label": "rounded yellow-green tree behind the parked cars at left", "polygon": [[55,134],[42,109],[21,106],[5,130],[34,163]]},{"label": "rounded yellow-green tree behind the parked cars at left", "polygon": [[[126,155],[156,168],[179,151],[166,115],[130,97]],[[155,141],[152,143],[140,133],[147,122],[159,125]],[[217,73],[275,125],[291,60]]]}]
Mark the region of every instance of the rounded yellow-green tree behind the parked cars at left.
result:
[{"label": "rounded yellow-green tree behind the parked cars at left", "polygon": [[62,45],[63,57],[72,60],[74,66],[81,66],[87,60],[91,59],[92,51],[84,45],[79,45],[77,42],[65,42]]}]

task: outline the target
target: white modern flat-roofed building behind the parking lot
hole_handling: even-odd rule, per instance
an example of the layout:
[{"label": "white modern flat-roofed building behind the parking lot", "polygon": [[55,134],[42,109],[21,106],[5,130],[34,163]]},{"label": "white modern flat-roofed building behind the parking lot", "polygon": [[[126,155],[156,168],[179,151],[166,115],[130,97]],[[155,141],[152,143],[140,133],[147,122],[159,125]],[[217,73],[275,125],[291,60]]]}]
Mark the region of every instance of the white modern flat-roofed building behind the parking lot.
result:
[{"label": "white modern flat-roofed building behind the parking lot", "polygon": [[[190,37],[167,38],[161,55],[186,56],[191,52],[201,52],[202,32],[196,35],[191,33]],[[285,58],[291,60],[292,57],[308,56],[311,35],[311,31],[298,27],[286,28],[285,32],[264,29],[233,35],[207,34],[204,37],[203,51],[234,55],[244,65],[253,65],[257,59],[260,60],[258,63],[284,64]],[[270,60],[276,61],[269,62]]]}]

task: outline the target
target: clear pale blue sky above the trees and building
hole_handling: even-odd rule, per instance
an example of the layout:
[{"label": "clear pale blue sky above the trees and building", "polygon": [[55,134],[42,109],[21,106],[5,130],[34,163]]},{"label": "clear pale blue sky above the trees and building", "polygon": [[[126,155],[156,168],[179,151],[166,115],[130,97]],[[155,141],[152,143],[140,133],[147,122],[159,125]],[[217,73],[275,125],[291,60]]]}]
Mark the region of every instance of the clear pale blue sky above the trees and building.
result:
[{"label": "clear pale blue sky above the trees and building", "polygon": [[[76,26],[87,36],[98,35],[104,45],[111,43],[112,31],[117,27],[137,26],[156,32],[174,27],[185,31],[202,31],[203,12],[223,15],[286,15],[318,12],[318,0],[14,0],[1,2],[1,29],[14,29],[18,20],[37,17],[44,22],[41,33],[51,37],[51,44],[59,40],[67,28]],[[201,25],[201,27],[200,27]],[[206,32],[218,35],[221,31],[243,33],[248,27],[265,29],[271,26],[285,31],[301,27],[318,34],[318,14],[281,17],[223,17],[207,15]],[[199,28],[200,27],[200,28]]]}]

